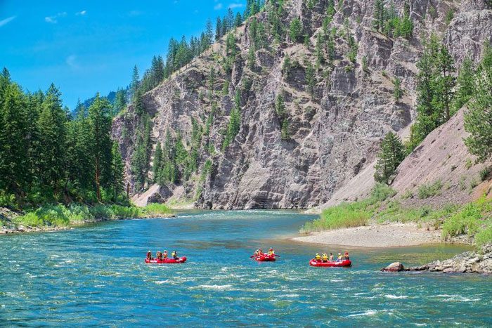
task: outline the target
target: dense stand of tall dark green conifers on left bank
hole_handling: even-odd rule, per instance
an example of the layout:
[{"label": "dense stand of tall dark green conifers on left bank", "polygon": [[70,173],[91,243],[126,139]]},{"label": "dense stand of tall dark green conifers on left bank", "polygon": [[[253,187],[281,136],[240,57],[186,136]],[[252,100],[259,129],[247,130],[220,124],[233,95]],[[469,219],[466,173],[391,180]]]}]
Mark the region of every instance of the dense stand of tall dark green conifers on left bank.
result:
[{"label": "dense stand of tall dark green conifers on left bank", "polygon": [[[122,161],[110,138],[112,106],[97,94],[72,117],[60,91],[24,93],[0,74],[0,206],[124,202]],[[11,200],[15,198],[15,204]]]}]

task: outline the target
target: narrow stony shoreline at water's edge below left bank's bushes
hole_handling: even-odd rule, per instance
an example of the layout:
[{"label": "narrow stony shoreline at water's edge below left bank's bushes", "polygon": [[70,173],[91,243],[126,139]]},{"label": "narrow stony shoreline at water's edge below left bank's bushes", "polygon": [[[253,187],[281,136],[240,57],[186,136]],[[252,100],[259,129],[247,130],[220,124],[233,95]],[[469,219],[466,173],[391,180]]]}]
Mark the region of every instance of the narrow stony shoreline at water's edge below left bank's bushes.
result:
[{"label": "narrow stony shoreline at water's edge below left bank's bushes", "polygon": [[21,233],[30,233],[30,232],[55,232],[61,230],[70,230],[74,228],[79,228],[84,225],[89,225],[91,223],[101,223],[107,221],[121,221],[121,220],[138,220],[138,219],[155,219],[155,218],[174,218],[176,214],[160,214],[158,216],[141,216],[135,218],[98,218],[96,220],[86,220],[77,223],[71,223],[70,225],[63,226],[42,226],[42,227],[29,227],[19,225],[15,227],[15,229],[10,228],[0,228],[0,235],[13,235],[13,234],[21,234]]}]

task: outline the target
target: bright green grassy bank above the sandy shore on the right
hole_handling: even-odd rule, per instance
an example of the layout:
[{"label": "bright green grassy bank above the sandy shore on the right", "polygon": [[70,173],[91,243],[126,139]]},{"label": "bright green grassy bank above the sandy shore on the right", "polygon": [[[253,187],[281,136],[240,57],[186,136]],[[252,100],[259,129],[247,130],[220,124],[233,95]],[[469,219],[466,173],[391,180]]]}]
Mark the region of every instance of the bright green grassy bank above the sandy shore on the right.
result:
[{"label": "bright green grassy bank above the sandy shore on the right", "polygon": [[465,205],[413,209],[402,206],[398,200],[389,200],[394,194],[387,185],[376,185],[368,199],[325,209],[320,218],[306,223],[300,232],[351,228],[370,222],[415,222],[441,229],[444,240],[467,234],[474,237],[477,245],[492,242],[492,199],[484,196]]}]

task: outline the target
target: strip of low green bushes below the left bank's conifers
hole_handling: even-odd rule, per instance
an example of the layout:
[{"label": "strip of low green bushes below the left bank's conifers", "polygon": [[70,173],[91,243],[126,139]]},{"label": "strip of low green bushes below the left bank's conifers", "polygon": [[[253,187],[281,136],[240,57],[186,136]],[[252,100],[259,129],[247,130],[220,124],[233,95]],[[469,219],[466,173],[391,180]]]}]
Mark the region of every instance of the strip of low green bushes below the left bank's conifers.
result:
[{"label": "strip of low green bushes below the left bank's conifers", "polygon": [[117,204],[47,204],[33,211],[0,216],[0,232],[29,232],[63,230],[75,225],[99,221],[128,218],[160,218],[173,216],[164,204],[149,204],[145,207],[122,206]]}]

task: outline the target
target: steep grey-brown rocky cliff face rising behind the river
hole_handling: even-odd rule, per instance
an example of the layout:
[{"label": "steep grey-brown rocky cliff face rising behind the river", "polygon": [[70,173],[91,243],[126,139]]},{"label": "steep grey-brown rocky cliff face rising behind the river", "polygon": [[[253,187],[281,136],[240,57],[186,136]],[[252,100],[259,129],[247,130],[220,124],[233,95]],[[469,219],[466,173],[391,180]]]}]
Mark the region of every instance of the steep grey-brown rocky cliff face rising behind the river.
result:
[{"label": "steep grey-brown rocky cliff face rising behind the river", "polygon": [[[267,1],[266,11],[256,16],[266,26],[268,6]],[[162,194],[152,195],[154,199],[164,201],[179,190],[182,198],[193,199],[203,208],[306,208],[328,202],[356,176],[365,174],[363,184],[370,185],[372,174],[367,172],[381,138],[388,131],[404,135],[415,117],[415,63],[422,50],[421,36],[431,31],[442,35],[459,66],[466,55],[478,60],[484,41],[492,35],[492,11],[481,1],[410,1],[415,28],[414,37],[408,40],[390,39],[371,29],[374,1],[335,1],[337,11],[330,23],[330,29],[336,29],[335,58],[331,64],[317,66],[316,36],[321,33],[327,6],[325,0],[285,1],[283,25],[300,18],[310,38],[307,43],[293,43],[288,37],[278,43],[267,32],[268,46],[255,51],[251,67],[250,19],[235,31],[238,55],[230,73],[221,65],[226,57],[224,38],[145,94],[145,110],[153,117],[154,142],[163,142],[168,130],[189,141],[191,118],[205,126],[212,104],[217,104],[210,132],[202,137],[195,176],[183,188],[154,188]],[[403,12],[403,1],[396,1],[395,6]],[[446,22],[450,10],[455,13]],[[358,45],[356,63],[347,55],[349,34]],[[286,57],[291,62],[288,70],[283,67]],[[328,57],[324,50],[323,57]],[[315,67],[312,89],[309,63]],[[399,103],[392,96],[395,77],[406,91]],[[240,131],[223,151],[236,91],[240,94]],[[278,94],[285,100],[287,139],[281,138],[282,122],[275,108]],[[132,187],[129,166],[136,122],[130,106],[117,117],[113,129]],[[212,170],[200,179],[207,159],[212,160]]]}]

